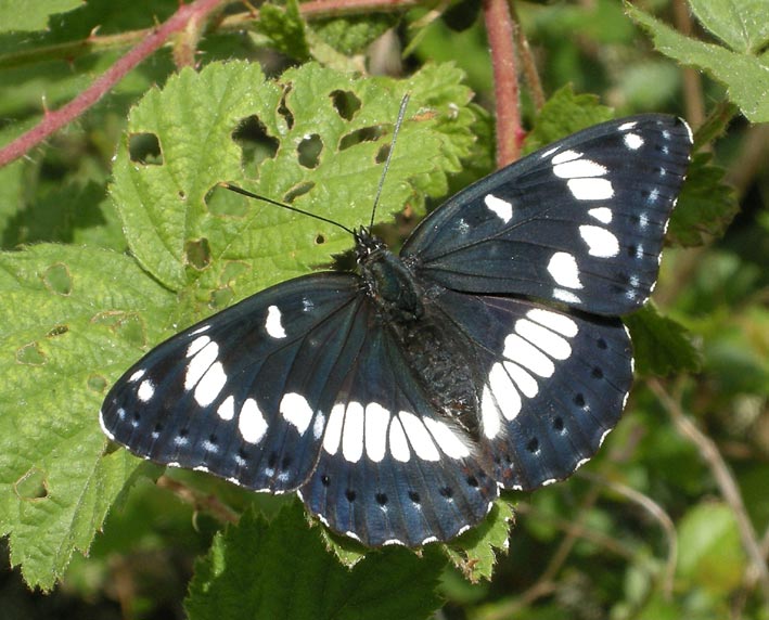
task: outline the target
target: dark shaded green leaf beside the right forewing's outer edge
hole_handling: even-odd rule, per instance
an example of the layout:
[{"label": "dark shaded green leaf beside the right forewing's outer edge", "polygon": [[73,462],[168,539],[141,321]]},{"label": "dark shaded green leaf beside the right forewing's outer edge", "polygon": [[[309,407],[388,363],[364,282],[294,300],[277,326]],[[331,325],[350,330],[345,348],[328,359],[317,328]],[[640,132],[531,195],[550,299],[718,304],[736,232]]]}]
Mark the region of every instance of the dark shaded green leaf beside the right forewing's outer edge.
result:
[{"label": "dark shaded green leaf beside the right forewing's outer edge", "polygon": [[684,247],[721,236],[739,209],[733,190],[723,183],[723,168],[710,159],[708,153],[694,155],[670,218],[668,238]]}]

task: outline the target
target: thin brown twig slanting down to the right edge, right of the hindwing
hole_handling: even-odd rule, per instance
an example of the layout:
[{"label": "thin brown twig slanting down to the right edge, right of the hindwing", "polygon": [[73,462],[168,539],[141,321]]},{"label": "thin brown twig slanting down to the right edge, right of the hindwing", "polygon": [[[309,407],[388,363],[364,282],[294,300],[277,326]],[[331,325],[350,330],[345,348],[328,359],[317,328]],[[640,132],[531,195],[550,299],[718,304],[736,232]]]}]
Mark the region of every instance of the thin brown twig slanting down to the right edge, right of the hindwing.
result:
[{"label": "thin brown twig slanting down to the right edge, right of the hindwing", "polygon": [[756,531],[753,528],[751,518],[747,516],[747,511],[742,501],[736,480],[734,480],[715,442],[704,435],[694,423],[684,415],[680,404],[668,395],[662,384],[657,379],[650,379],[649,387],[672,418],[678,431],[696,445],[701,456],[709,467],[723,500],[734,513],[736,526],[740,531],[740,539],[749,558],[751,570],[755,571],[757,576],[756,580],[760,584],[764,598],[767,605],[769,605],[769,568],[767,568],[767,563],[761,552]]}]

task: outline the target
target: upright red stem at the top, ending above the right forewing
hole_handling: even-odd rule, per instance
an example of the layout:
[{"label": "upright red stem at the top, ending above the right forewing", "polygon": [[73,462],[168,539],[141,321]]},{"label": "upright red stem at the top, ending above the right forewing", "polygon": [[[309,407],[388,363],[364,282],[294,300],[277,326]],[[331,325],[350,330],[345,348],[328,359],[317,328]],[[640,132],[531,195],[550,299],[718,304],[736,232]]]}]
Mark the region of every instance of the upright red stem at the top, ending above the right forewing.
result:
[{"label": "upright red stem at the top, ending above the right forewing", "polygon": [[521,144],[524,138],[518,102],[514,25],[507,0],[485,0],[484,20],[494,69],[497,111],[497,167],[502,168],[521,156]]}]

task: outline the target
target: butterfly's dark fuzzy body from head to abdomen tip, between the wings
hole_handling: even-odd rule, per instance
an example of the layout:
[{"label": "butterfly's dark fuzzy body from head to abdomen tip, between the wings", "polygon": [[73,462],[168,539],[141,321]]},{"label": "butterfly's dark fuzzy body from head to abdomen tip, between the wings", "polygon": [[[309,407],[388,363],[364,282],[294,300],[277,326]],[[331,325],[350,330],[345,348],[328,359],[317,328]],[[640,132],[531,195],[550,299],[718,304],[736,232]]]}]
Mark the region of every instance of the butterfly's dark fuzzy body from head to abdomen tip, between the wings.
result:
[{"label": "butterfly's dark fuzzy body from head to abdomen tip, between the wings", "polygon": [[426,295],[413,271],[380,238],[361,229],[356,254],[369,298],[396,339],[406,363],[445,417],[472,437],[478,434],[477,377],[472,350]]}]

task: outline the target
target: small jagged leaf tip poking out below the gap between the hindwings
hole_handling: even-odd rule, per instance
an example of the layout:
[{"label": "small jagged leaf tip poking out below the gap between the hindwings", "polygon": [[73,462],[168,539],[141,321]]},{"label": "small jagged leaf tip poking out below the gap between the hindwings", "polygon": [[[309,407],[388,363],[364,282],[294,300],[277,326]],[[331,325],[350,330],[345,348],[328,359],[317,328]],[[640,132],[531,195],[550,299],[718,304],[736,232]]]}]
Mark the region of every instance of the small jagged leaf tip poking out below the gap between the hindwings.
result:
[{"label": "small jagged leaf tip poking out below the gap between the hindwings", "polygon": [[508,552],[514,520],[513,507],[504,500],[497,500],[484,522],[445,545],[449,559],[465,579],[473,583],[491,579],[497,554]]}]

